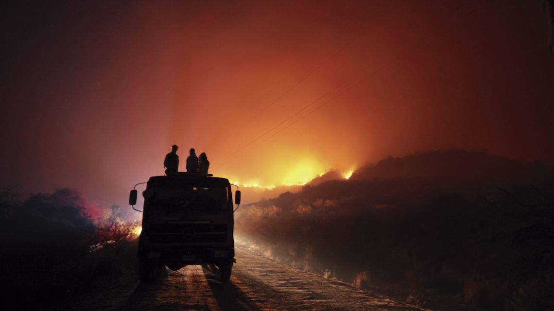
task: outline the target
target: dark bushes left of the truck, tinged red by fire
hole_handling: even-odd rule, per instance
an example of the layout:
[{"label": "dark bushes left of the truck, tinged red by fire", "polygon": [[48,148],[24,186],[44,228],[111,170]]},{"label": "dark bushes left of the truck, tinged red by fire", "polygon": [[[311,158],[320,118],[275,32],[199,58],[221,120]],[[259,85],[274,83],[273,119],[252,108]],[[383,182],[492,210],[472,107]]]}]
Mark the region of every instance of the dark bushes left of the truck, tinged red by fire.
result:
[{"label": "dark bushes left of the truck, tinged red by fire", "polygon": [[117,207],[93,222],[73,190],[25,201],[4,191],[0,228],[0,293],[7,310],[55,307],[95,291],[134,264],[127,256],[134,257],[132,226],[120,221]]}]

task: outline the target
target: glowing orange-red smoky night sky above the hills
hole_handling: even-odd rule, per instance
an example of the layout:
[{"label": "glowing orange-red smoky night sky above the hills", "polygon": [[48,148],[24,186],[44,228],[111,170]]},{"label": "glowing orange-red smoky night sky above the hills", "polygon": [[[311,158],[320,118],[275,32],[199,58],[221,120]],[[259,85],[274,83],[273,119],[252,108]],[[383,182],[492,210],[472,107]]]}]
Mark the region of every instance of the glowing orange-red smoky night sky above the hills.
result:
[{"label": "glowing orange-red smoky night sky above the hills", "polygon": [[2,4],[0,184],[94,204],[178,144],[242,184],[388,155],[554,160],[541,1]]}]

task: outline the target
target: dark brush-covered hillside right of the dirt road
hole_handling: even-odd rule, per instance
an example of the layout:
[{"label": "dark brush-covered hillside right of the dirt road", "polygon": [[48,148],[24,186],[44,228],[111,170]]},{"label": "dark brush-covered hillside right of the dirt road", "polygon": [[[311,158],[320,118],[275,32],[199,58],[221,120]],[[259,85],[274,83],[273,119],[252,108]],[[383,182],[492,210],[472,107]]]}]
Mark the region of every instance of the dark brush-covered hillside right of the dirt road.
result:
[{"label": "dark brush-covered hillside right of the dirt road", "polygon": [[336,180],[241,209],[239,241],[409,303],[554,308],[552,175]]}]

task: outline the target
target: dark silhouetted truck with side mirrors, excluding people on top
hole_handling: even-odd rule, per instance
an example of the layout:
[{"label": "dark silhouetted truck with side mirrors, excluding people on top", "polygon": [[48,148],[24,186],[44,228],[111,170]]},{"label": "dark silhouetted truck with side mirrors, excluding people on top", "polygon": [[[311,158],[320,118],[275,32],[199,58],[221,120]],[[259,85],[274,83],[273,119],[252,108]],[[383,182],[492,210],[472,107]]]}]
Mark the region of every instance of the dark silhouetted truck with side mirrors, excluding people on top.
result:
[{"label": "dark silhouetted truck with side mirrors, excluding people on top", "polygon": [[[129,203],[136,204],[137,190]],[[212,174],[151,177],[142,192],[139,277],[148,282],[163,266],[216,265],[228,281],[235,262],[233,196],[228,179]],[[235,192],[240,204],[240,191]]]}]

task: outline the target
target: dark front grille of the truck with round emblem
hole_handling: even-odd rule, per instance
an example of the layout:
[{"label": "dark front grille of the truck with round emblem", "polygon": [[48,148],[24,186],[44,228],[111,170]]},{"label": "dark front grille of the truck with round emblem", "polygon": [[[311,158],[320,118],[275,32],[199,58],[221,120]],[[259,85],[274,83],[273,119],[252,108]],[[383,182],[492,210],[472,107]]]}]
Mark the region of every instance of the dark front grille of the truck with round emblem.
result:
[{"label": "dark front grille of the truck with round emblem", "polygon": [[227,241],[226,225],[152,225],[150,240],[158,243],[213,243]]}]

